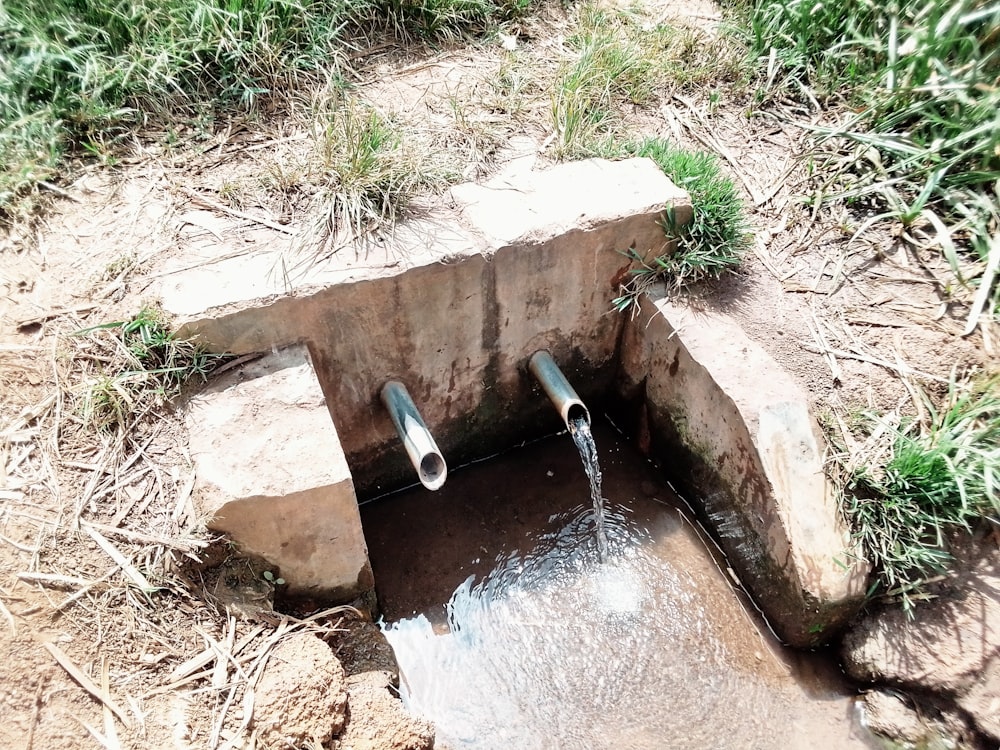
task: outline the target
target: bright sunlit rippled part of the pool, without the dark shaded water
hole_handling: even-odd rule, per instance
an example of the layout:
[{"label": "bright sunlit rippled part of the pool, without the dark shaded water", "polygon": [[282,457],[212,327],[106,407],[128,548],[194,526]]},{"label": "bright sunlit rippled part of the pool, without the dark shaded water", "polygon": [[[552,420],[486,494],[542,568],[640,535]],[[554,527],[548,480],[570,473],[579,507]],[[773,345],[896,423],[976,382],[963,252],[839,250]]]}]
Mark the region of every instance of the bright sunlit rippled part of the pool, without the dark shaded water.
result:
[{"label": "bright sunlit rippled part of the pool, without the dark shaded water", "polygon": [[422,615],[385,628],[438,747],[795,747],[791,696],[718,637],[717,603],[623,513],[606,513],[602,561],[593,512],[467,579],[450,632]]}]

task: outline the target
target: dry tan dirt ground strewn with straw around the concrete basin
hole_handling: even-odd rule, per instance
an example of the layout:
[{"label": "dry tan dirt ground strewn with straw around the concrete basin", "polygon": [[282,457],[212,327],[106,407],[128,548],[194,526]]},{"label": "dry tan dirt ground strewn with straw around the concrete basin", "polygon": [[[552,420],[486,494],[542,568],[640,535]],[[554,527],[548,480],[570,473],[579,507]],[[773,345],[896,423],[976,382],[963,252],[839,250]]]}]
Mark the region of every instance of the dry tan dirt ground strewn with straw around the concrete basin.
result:
[{"label": "dry tan dirt ground strewn with straw around the concrete basin", "polygon": [[[518,44],[558,44],[566,20],[552,14]],[[357,61],[357,91],[433,130],[468,179],[525,153],[543,168],[549,133],[532,107],[547,100],[477,109],[504,54],[500,42],[417,58],[390,46]],[[456,119],[456,97],[489,128]],[[700,292],[704,304],[735,314],[834,422],[869,407],[914,413],[913,383],[940,392],[953,368],[1000,368],[995,319],[962,335],[971,292],[935,250],[893,227],[852,239],[863,216],[801,200],[806,134],[794,114],[820,116],[776,105],[748,118],[746,102],[717,105],[707,92],[663,92],[628,116],[633,132],[720,154],[743,192],[753,252],[738,276]],[[205,262],[206,237],[251,253],[307,223],[306,193],[250,176],[280,181],[308,158],[309,138],[295,107],[182,129],[170,146],[147,133],[117,165],[82,168],[37,226],[0,236],[0,747],[252,747],[242,686],[275,633],[343,626],[343,612],[225,614],[195,564],[208,540],[182,423],[168,411],[116,440],[75,411],[95,361],[81,368],[94,352],[74,331],[133,314],[164,269]],[[919,246],[927,235],[914,231]]]}]

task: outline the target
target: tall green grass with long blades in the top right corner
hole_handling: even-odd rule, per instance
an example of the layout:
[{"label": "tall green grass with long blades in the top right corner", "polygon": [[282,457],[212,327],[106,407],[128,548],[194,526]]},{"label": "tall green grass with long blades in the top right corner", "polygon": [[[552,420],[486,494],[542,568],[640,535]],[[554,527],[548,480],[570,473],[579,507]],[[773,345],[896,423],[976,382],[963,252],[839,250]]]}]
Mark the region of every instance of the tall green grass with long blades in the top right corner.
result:
[{"label": "tall green grass with long blades in the top right corner", "polygon": [[767,92],[846,105],[815,129],[823,197],[928,227],[966,283],[956,253],[986,261],[1000,221],[1000,3],[752,0],[745,17]]}]

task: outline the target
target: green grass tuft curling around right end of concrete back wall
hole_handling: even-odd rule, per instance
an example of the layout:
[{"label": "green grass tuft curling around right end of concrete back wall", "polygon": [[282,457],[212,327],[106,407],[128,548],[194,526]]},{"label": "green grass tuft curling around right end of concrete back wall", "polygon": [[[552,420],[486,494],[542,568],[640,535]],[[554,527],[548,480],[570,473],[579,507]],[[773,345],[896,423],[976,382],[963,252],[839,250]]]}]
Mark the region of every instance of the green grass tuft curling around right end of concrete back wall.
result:
[{"label": "green grass tuft curling around right end of concrete back wall", "polygon": [[641,293],[658,280],[665,281],[675,292],[739,267],[749,247],[749,225],[733,181],[720,172],[713,154],[686,151],[653,138],[608,141],[602,155],[649,157],[675,185],[688,192],[694,214],[690,223],[679,225],[673,212],[667,211],[664,230],[676,240],[673,252],[646,260],[634,250],[629,251],[629,257],[639,265],[631,271],[620,296],[612,301],[615,309],[637,309]]}]

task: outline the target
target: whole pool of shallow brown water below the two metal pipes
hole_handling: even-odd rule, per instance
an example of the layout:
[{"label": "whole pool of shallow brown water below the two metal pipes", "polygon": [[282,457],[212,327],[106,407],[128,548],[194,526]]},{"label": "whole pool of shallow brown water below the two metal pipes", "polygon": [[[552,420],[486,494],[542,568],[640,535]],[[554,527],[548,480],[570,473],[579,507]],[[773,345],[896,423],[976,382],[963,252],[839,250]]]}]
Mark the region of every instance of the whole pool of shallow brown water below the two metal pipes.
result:
[{"label": "whole pool of shallow brown water below the two metal pipes", "polygon": [[362,506],[404,700],[445,750],[878,747],[824,654],[783,649],[604,420],[608,554],[572,441]]}]

